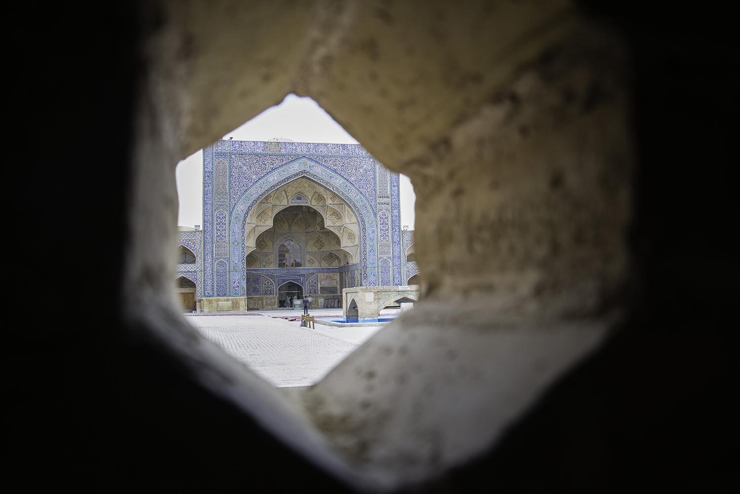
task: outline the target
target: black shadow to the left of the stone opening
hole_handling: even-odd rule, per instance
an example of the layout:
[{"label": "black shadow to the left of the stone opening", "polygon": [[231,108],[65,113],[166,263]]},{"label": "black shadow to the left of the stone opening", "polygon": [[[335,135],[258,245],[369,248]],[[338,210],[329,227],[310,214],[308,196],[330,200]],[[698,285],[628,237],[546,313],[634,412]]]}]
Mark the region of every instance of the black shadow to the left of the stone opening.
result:
[{"label": "black shadow to the left of the stone opening", "polygon": [[[29,5],[17,19],[34,19],[36,27],[33,34],[22,23],[10,27],[23,44],[16,68],[28,79],[11,101],[22,116],[15,124],[24,132],[48,124],[32,138],[50,154],[37,162],[33,180],[28,167],[19,170],[25,179],[13,198],[44,198],[27,204],[27,221],[48,218],[53,206],[58,216],[44,221],[44,237],[58,239],[59,255],[74,269],[64,275],[68,295],[44,297],[41,317],[24,324],[5,362],[14,376],[7,417],[15,424],[6,481],[78,492],[345,492],[192,381],[147,328],[123,323],[125,313],[138,310],[121,304],[121,278],[136,87],[145,63],[138,42],[164,21],[154,4],[101,9],[81,2],[43,12]],[[16,147],[13,159],[26,153]],[[24,224],[29,231],[21,225],[21,237],[30,234]],[[25,255],[41,255],[45,244],[29,244]],[[12,268],[18,293],[39,293],[34,276]]]}]

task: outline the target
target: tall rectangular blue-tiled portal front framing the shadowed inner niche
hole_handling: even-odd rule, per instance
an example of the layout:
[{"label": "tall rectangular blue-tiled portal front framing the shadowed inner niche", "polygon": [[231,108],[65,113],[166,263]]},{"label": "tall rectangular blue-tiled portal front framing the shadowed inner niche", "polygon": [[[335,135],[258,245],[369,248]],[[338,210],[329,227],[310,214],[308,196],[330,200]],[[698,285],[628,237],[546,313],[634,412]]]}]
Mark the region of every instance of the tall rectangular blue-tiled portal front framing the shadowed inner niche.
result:
[{"label": "tall rectangular blue-tiled portal front framing the shadowed inner niche", "polygon": [[[203,150],[203,178],[203,297],[266,296],[248,271],[277,284],[288,268],[246,258],[277,213],[298,205],[317,210],[348,253],[331,267],[325,256],[291,267],[308,293],[403,283],[398,175],[360,145],[218,141]],[[312,187],[276,194],[299,182]],[[339,273],[335,287],[321,287],[319,273]]]}]

